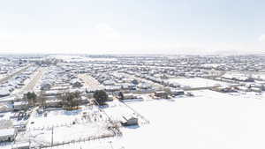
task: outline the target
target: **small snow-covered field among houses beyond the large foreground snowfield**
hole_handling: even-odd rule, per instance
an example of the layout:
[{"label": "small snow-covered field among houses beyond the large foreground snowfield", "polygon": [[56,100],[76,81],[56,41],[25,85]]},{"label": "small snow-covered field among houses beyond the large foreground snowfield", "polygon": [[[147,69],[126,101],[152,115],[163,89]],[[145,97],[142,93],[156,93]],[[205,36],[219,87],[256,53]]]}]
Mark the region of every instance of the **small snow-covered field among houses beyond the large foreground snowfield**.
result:
[{"label": "small snow-covered field among houses beyond the large foreground snowfield", "polygon": [[229,83],[215,81],[206,78],[170,78],[169,83],[178,83],[181,86],[190,86],[192,88],[208,86],[228,86]]}]

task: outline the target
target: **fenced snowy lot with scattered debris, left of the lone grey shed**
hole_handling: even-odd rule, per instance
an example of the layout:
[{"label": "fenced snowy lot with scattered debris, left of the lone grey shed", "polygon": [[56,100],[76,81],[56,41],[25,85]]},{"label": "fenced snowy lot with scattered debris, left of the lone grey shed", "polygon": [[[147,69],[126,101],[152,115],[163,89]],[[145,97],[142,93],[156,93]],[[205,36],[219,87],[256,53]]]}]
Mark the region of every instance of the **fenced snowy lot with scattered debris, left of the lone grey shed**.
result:
[{"label": "fenced snowy lot with scattered debris, left of the lone grey shed", "polygon": [[96,107],[87,107],[74,111],[51,110],[39,115],[36,112],[27,124],[27,133],[19,140],[30,138],[34,144],[49,145],[79,141],[95,137],[113,136],[108,129],[108,117]]}]

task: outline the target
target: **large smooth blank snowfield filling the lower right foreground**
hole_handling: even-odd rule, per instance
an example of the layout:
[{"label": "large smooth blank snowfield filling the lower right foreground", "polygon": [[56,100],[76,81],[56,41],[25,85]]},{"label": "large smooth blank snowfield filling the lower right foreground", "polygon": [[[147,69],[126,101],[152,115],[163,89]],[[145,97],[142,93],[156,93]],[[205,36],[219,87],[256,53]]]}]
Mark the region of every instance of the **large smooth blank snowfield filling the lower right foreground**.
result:
[{"label": "large smooth blank snowfield filling the lower right foreground", "polygon": [[[265,96],[234,96],[196,91],[195,97],[173,101],[141,101],[129,105],[150,124],[123,128],[122,138],[108,138],[54,148],[262,149],[265,147]],[[112,107],[113,108],[113,107]],[[111,143],[110,143],[111,141]]]}]

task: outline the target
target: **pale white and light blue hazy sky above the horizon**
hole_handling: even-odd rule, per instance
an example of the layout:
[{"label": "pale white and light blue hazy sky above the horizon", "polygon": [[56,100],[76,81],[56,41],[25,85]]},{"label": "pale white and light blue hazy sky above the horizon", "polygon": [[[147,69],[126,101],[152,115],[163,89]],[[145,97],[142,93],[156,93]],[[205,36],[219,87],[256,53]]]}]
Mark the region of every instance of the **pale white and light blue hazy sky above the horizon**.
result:
[{"label": "pale white and light blue hazy sky above the horizon", "polygon": [[264,53],[265,3],[239,1],[1,1],[0,53]]}]

